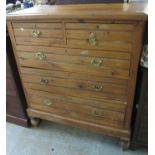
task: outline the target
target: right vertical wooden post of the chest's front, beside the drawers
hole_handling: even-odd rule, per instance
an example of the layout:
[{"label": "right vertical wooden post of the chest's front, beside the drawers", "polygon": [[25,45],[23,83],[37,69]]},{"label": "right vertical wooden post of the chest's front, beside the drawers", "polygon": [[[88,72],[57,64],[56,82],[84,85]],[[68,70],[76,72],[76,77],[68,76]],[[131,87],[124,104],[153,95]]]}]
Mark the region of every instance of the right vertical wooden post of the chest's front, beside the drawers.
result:
[{"label": "right vertical wooden post of the chest's front, beside the drawers", "polygon": [[[138,64],[140,60],[140,55],[142,52],[142,41],[143,41],[143,31],[144,31],[144,23],[135,25],[135,32],[133,35],[133,52],[131,55],[131,68],[130,70],[130,78],[129,78],[129,87],[128,87],[128,102],[129,104],[126,107],[126,116],[124,120],[124,124],[126,128],[131,126],[131,116],[132,116],[132,108],[134,103],[134,94],[136,87],[136,79],[137,79],[137,70]],[[135,44],[136,42],[136,44]]]}]

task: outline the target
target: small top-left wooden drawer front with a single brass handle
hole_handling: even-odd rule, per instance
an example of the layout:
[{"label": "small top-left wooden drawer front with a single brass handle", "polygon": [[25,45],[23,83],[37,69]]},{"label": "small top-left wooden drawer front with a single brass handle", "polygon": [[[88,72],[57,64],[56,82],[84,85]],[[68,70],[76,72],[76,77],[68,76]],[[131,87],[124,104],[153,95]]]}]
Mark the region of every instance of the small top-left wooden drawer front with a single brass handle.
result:
[{"label": "small top-left wooden drawer front with a single brass handle", "polygon": [[13,23],[17,45],[64,44],[61,23]]}]

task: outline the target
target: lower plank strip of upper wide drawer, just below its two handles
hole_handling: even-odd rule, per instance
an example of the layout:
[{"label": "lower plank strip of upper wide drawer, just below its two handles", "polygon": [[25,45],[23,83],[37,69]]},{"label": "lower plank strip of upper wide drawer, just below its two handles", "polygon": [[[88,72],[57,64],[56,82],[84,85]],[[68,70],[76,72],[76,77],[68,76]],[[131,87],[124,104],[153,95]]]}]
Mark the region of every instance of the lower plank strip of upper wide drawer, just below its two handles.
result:
[{"label": "lower plank strip of upper wide drawer, just below its two handles", "polygon": [[55,63],[48,61],[39,61],[39,60],[21,60],[19,61],[20,65],[23,67],[32,67],[38,69],[48,69],[48,70],[59,70],[75,73],[86,73],[93,76],[102,75],[104,77],[113,77],[120,79],[128,79],[129,71],[122,69],[113,69],[113,68],[97,68],[90,66],[79,66],[77,64],[67,64],[67,63]]}]

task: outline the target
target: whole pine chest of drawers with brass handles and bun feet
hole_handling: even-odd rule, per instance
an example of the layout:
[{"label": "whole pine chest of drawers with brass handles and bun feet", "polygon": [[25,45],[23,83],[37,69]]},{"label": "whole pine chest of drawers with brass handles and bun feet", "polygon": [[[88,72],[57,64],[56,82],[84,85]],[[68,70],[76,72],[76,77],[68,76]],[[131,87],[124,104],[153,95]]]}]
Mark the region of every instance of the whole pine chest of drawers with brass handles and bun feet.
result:
[{"label": "whole pine chest of drawers with brass handles and bun feet", "polygon": [[32,123],[130,140],[146,4],[42,6],[7,15]]}]

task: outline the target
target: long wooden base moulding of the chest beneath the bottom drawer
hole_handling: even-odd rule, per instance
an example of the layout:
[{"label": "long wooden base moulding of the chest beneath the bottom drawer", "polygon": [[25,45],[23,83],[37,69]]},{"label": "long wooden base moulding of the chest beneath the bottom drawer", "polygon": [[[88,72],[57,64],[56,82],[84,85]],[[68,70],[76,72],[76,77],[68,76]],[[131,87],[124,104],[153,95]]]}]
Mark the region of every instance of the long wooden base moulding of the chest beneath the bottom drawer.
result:
[{"label": "long wooden base moulding of the chest beneath the bottom drawer", "polygon": [[35,116],[49,121],[68,124],[79,128],[85,128],[89,131],[106,134],[117,138],[124,137],[126,139],[129,139],[129,136],[130,136],[129,131],[123,130],[120,128],[109,127],[107,125],[99,125],[96,123],[91,123],[87,121],[73,119],[70,117],[64,117],[64,116],[51,114],[51,113],[47,113],[39,110],[34,110],[32,108],[29,108],[27,111],[30,116]]}]

